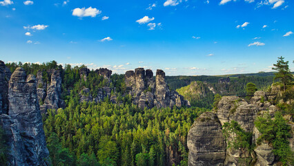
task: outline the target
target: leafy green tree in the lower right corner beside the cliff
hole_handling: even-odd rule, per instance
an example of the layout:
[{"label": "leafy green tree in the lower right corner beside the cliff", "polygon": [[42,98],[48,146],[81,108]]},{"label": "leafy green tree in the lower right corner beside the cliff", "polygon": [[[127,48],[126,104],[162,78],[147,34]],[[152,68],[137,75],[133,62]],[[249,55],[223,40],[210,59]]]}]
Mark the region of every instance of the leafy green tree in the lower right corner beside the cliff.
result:
[{"label": "leafy green tree in the lower right corner beside the cliff", "polygon": [[255,127],[262,133],[257,139],[257,145],[266,141],[273,147],[273,153],[283,165],[293,162],[294,156],[288,142],[288,138],[291,138],[291,127],[284,120],[282,113],[275,113],[274,119],[269,114],[257,117]]}]

